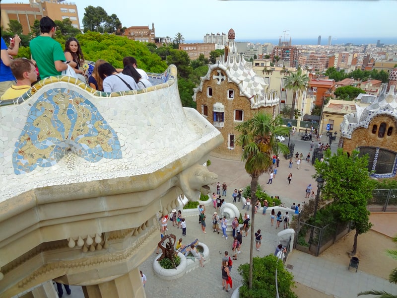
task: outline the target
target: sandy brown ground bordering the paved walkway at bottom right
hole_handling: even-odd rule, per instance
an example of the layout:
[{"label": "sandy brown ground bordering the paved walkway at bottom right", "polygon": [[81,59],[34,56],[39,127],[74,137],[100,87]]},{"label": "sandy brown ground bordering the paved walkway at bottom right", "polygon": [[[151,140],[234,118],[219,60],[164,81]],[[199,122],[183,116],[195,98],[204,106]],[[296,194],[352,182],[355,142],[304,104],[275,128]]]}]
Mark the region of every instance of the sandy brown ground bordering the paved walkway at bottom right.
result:
[{"label": "sandy brown ground bordering the paved walkway at bottom right", "polygon": [[[338,242],[324,251],[319,258],[325,258],[336,263],[349,265],[349,252],[353,247],[355,231],[351,231]],[[357,254],[360,263],[358,269],[385,279],[389,279],[390,272],[397,267],[397,262],[386,255],[386,249],[396,249],[396,243],[391,237],[377,231],[358,235]],[[299,298],[333,298],[333,295],[326,295],[304,285],[296,284],[293,290]]]}]

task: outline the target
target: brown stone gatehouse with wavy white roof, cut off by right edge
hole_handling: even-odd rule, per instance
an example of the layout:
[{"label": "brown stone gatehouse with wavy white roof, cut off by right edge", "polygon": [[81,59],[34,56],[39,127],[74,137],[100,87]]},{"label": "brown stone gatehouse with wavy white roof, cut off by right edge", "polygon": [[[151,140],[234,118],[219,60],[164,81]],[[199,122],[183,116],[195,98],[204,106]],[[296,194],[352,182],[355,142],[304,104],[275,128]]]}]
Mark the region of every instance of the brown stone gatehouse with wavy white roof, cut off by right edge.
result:
[{"label": "brown stone gatehouse with wavy white roof, cut off by right edge", "polygon": [[357,113],[345,115],[340,125],[339,146],[351,152],[369,155],[368,169],[374,178],[397,180],[397,68],[389,75],[381,95]]}]

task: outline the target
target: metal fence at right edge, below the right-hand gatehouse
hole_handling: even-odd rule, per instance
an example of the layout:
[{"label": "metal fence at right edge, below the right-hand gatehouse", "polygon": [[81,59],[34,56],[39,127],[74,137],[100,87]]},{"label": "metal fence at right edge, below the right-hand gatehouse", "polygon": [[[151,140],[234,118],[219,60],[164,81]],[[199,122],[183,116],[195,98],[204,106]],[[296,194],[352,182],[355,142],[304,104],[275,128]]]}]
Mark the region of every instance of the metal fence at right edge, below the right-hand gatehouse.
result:
[{"label": "metal fence at right edge, below the right-hand gatehouse", "polygon": [[397,212],[397,189],[374,189],[367,208],[371,212]]}]

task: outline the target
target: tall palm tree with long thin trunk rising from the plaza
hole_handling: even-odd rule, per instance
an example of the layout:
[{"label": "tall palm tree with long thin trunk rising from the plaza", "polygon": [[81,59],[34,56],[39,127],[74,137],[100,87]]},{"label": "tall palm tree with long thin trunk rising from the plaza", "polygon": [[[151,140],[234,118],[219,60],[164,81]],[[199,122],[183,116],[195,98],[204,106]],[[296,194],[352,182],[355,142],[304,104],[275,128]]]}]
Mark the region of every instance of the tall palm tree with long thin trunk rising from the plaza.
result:
[{"label": "tall palm tree with long thin trunk rising from the plaza", "polygon": [[[285,136],[288,127],[282,127],[281,117],[272,118],[271,114],[258,112],[251,119],[236,126],[240,135],[236,144],[243,148],[241,159],[245,161],[245,170],[251,176],[251,205],[257,203],[256,192],[259,176],[272,166],[272,155],[288,153],[286,145],[277,142],[276,135]],[[254,248],[255,208],[251,209],[251,245],[250,245],[250,276],[248,288],[252,289],[252,258]]]}]

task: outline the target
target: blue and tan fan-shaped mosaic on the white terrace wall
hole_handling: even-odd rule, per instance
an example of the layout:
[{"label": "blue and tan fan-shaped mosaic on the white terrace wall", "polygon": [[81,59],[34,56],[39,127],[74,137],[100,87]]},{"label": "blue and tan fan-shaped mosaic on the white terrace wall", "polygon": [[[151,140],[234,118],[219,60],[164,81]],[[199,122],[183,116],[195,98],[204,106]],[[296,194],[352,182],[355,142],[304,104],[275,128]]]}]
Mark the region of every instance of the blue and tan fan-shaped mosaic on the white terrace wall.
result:
[{"label": "blue and tan fan-shaped mosaic on the white terrace wall", "polygon": [[53,166],[69,151],[89,162],[122,158],[118,136],[88,99],[66,88],[51,89],[28,113],[12,154],[14,172]]}]

